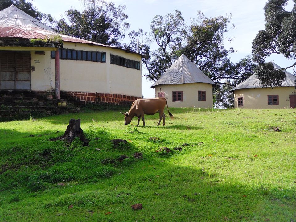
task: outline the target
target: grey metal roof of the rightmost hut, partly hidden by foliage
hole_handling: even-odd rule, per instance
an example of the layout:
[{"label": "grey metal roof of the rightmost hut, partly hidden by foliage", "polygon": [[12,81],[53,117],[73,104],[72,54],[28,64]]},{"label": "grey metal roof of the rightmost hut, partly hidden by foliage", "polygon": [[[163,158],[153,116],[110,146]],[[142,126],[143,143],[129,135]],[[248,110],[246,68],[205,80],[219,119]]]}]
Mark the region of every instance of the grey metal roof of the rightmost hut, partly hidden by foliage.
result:
[{"label": "grey metal roof of the rightmost hut, partly hidden by foliage", "polygon": [[[279,65],[273,63],[273,66],[275,69],[281,69],[282,67],[280,67]],[[283,72],[286,73],[286,79],[282,81],[281,86],[295,86],[294,80],[295,80],[295,76],[292,75],[290,72],[287,72],[286,70],[283,70]],[[258,80],[256,78],[255,73],[250,76],[248,79],[246,79],[245,81],[243,81],[242,83],[238,84],[236,87],[232,88],[230,90],[230,92],[236,90],[236,89],[245,89],[245,88],[264,88],[261,83],[260,80]]]}]

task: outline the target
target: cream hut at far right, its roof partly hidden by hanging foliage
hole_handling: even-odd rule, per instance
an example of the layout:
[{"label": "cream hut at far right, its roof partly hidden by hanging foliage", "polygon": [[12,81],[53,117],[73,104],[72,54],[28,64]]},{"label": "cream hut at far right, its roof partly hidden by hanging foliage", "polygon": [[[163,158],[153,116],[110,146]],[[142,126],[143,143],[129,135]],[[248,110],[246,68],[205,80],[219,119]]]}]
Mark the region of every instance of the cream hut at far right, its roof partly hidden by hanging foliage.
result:
[{"label": "cream hut at far right, its roof partly hidden by hanging foliage", "polygon": [[[275,69],[281,67],[273,63]],[[290,72],[284,71],[287,75],[279,87],[264,88],[253,74],[248,79],[232,88],[234,93],[235,108],[249,109],[274,109],[274,108],[295,108],[296,90],[295,76]]]}]

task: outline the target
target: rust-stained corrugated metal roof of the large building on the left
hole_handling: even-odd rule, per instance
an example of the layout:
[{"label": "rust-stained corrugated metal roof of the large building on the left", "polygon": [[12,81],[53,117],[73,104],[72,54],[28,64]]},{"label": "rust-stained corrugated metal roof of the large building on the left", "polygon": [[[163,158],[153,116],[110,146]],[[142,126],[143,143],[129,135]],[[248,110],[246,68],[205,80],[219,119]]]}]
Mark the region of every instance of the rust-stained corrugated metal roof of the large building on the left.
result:
[{"label": "rust-stained corrugated metal roof of the large building on the left", "polygon": [[[24,11],[18,9],[14,5],[11,5],[10,7],[0,11],[0,37],[46,39],[52,35],[60,35],[62,40],[65,42],[86,43],[104,47],[111,47],[115,49],[121,49],[118,47],[103,45],[100,43],[79,39],[68,35],[61,35],[58,32],[51,29],[50,27],[44,25],[37,19],[28,15]],[[133,51],[125,51],[141,55]]]}]

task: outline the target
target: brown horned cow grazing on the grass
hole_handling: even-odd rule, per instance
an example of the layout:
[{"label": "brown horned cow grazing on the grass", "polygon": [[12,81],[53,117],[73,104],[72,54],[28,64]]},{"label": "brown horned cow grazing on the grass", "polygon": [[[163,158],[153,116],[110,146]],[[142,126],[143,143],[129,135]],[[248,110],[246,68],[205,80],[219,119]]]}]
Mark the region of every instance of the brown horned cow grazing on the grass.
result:
[{"label": "brown horned cow grazing on the grass", "polygon": [[[167,100],[162,97],[152,98],[152,99],[137,99],[133,102],[132,107],[130,108],[129,112],[122,113],[125,115],[124,117],[124,124],[128,125],[132,121],[132,118],[135,116],[138,117],[138,125],[140,123],[140,117],[143,120],[143,126],[145,126],[144,121],[144,114],[146,115],[154,115],[155,113],[159,113],[159,122],[160,124],[161,119],[163,118],[163,125],[165,124],[166,116],[163,113],[163,110],[167,104]],[[167,106],[167,111],[171,118],[173,115],[169,111],[169,107]],[[121,112],[120,112],[121,113]]]}]

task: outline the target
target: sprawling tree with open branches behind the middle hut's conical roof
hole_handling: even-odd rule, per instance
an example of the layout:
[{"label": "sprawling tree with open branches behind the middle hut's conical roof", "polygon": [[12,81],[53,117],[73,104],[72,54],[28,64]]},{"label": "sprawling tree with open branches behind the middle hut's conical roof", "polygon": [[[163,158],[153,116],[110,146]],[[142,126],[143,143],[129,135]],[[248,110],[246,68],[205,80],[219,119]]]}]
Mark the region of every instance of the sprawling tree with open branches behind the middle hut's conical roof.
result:
[{"label": "sprawling tree with open branches behind the middle hut's conical roof", "polygon": [[[245,80],[252,75],[253,63],[250,58],[236,64],[230,61],[229,54],[234,50],[224,47],[225,40],[232,40],[224,37],[230,18],[207,18],[199,12],[197,19],[191,19],[191,24],[186,26],[179,10],[174,14],[157,15],[151,22],[149,42],[147,33],[133,31],[130,33],[132,41],[125,48],[135,51],[135,39],[140,37],[140,53],[145,55],[142,62],[147,69],[143,76],[151,81],[156,81],[184,53],[216,83],[230,79],[229,84],[235,86],[237,81],[232,80]],[[151,43],[156,43],[158,48],[151,51]]]}]

